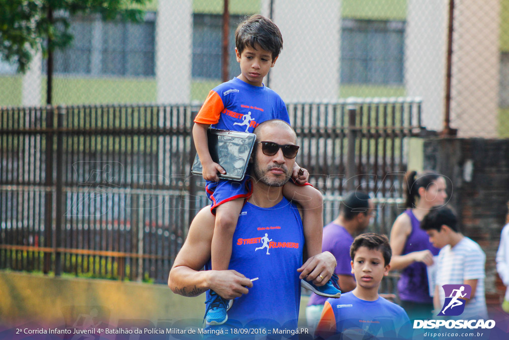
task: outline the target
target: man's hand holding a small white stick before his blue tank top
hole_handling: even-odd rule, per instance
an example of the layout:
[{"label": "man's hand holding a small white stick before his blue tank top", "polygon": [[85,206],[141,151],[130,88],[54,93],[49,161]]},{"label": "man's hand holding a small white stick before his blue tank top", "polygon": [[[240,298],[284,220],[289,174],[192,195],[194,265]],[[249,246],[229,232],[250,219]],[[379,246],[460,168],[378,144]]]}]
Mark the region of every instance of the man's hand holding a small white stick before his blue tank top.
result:
[{"label": "man's hand holding a small white stick before his blue tank top", "polygon": [[231,300],[247,294],[253,286],[250,279],[235,270],[211,270],[208,285],[224,299]]}]

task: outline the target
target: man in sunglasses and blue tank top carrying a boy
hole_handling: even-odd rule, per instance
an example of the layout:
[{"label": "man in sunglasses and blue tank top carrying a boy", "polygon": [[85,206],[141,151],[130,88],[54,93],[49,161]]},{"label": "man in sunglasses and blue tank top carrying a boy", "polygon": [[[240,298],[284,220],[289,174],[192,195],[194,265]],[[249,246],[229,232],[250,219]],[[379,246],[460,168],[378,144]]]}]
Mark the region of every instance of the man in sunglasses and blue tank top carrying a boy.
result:
[{"label": "man in sunglasses and blue tank top carrying a boy", "polygon": [[[288,152],[296,153],[299,148],[295,131],[284,121],[269,120],[261,123],[255,134],[257,140],[269,144],[254,146],[250,171],[253,194],[238,218],[229,270],[210,270],[215,218],[205,207],[192,221],[169,273],[168,285],[176,294],[197,296],[213,290],[224,299],[235,299],[227,320],[222,325],[207,325],[207,329],[295,330],[300,280],[327,282],[336,267],[329,252],[304,254],[299,210],[282,193],[295,162],[295,155],[289,157]],[[268,147],[270,144],[275,148]],[[265,237],[272,240],[268,242],[270,251],[257,251],[263,248]],[[207,270],[202,271],[204,266]],[[210,300],[211,294],[207,295]]]}]

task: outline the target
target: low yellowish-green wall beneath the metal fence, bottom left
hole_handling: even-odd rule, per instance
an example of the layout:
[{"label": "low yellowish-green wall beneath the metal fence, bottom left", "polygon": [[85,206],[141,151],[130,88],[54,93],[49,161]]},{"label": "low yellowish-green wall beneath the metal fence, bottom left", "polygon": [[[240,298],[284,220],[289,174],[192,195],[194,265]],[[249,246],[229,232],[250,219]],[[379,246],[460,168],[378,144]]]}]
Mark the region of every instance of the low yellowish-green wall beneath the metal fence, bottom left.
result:
[{"label": "low yellowish-green wall beneath the metal fence, bottom left", "polygon": [[[111,327],[201,327],[204,301],[204,295],[186,298],[159,284],[0,272],[0,338],[11,338],[3,326],[72,327],[90,315]],[[303,297],[301,319],[306,303]]]}]

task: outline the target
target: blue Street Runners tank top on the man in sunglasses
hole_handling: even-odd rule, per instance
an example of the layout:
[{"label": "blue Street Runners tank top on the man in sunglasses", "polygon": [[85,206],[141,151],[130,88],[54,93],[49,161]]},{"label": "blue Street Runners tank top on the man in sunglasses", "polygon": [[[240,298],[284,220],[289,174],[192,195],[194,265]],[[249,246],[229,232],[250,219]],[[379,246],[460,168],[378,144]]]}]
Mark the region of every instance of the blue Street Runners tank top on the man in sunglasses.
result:
[{"label": "blue Street Runners tank top on the man in sunglasses", "polygon": [[297,269],[302,266],[303,246],[299,212],[286,198],[271,208],[246,202],[235,229],[229,269],[259,279],[253,281],[248,294],[234,300],[228,321],[221,326],[296,329],[300,305]]}]

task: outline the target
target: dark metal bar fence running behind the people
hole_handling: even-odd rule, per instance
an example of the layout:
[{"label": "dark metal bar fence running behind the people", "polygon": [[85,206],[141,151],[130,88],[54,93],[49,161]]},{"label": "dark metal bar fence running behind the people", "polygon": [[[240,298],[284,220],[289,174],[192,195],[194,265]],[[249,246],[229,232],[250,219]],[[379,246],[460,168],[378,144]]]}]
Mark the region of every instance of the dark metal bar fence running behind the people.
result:
[{"label": "dark metal bar fence running behind the people", "polygon": [[[297,162],[325,197],[376,197],[374,231],[399,211],[408,139],[420,101],[292,103]],[[197,210],[191,176],[197,106],[0,109],[0,269],[165,282]]]}]

